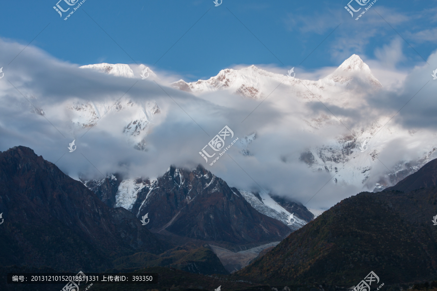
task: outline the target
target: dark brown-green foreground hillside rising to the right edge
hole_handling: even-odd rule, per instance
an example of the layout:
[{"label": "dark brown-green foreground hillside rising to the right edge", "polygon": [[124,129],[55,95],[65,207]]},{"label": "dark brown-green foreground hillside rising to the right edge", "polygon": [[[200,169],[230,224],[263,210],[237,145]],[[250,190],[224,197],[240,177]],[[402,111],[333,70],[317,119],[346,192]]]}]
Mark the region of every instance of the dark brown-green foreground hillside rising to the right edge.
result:
[{"label": "dark brown-green foreground hillside rising to the right edge", "polygon": [[[435,161],[433,161],[435,162]],[[406,180],[433,185],[434,163]],[[411,177],[410,176],[410,177]],[[350,287],[374,271],[386,284],[435,279],[437,187],[360,193],[290,234],[236,275],[275,282]],[[371,286],[373,287],[373,286]]]}]

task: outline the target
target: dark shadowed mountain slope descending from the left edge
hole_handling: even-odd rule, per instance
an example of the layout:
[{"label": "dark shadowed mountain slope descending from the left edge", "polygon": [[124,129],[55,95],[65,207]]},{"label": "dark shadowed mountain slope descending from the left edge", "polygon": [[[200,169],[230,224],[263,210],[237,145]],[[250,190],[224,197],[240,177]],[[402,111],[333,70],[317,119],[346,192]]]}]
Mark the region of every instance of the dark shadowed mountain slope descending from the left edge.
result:
[{"label": "dark shadowed mountain slope descending from the left edge", "polygon": [[119,256],[159,254],[171,247],[130,211],[108,207],[28,147],[0,153],[0,185],[3,266],[95,272]]}]

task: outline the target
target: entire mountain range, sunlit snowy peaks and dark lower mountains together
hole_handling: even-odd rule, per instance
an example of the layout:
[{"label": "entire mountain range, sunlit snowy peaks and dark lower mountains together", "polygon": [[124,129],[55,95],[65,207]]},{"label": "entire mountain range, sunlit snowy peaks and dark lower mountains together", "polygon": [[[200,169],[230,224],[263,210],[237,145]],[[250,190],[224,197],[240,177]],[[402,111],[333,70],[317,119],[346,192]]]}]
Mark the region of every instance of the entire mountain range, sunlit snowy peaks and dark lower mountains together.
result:
[{"label": "entire mountain range, sunlit snowy peaks and dark lower mountains together", "polygon": [[[205,100],[224,92],[262,102],[281,86],[281,94],[292,96],[289,99],[297,104],[311,107],[322,102],[351,111],[367,106],[369,95],[384,90],[357,55],[318,81],[254,65],[224,69],[208,80],[165,84],[145,65],[95,64],[81,69],[131,79],[146,70],[145,82],[153,80]],[[34,104],[33,112],[44,116],[36,99]],[[155,128],[155,121],[168,114],[167,107],[153,98],[133,100],[128,95],[115,104],[76,99],[64,105],[73,132],[96,126],[106,113],[123,113],[126,143],[142,155],[150,150],[149,134],[162,130]],[[70,272],[146,267],[204,275],[233,272],[227,278],[256,286],[329,290],[356,286],[370,271],[391,285],[435,280],[437,233],[431,219],[437,214],[436,135],[386,126],[391,113],[362,123],[317,110],[305,114],[296,117],[295,125],[303,132],[324,136],[333,127],[344,127],[344,132],[284,154],[281,162],[326,172],[331,184],[368,190],[324,212],[295,201],[293,187],[286,193],[234,187],[202,164],[170,165],[156,178],[115,169],[101,179],[81,175],[78,181],[28,147],[0,152],[3,265],[10,270],[48,267]],[[236,146],[240,158],[258,157],[254,149],[263,138],[258,132],[241,137]],[[382,153],[399,140],[418,150],[381,172]],[[144,217],[149,219],[145,225]]]}]

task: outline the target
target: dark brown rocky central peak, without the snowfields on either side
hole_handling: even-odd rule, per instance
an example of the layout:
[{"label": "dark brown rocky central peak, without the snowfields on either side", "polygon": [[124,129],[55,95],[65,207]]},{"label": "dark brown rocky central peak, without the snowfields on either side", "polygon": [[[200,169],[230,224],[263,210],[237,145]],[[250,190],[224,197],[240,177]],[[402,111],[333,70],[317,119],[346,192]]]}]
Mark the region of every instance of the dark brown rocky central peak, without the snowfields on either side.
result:
[{"label": "dark brown rocky central peak, without the snowfields on either side", "polygon": [[282,240],[290,229],[257,210],[225,181],[198,166],[170,167],[138,194],[132,211],[149,213],[152,232],[204,241],[247,244]]}]

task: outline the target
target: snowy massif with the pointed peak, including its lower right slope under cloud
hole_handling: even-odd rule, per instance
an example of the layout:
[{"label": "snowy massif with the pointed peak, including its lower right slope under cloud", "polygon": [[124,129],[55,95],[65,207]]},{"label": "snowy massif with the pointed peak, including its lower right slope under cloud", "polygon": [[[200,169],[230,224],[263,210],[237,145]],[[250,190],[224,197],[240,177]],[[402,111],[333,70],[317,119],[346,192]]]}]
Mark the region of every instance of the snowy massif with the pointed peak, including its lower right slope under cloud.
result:
[{"label": "snowy massif with the pointed peak, including its lower right slope under cloud", "polygon": [[[285,92],[297,97],[296,99],[301,103],[321,101],[330,107],[357,111],[363,105],[367,105],[369,96],[382,89],[381,83],[372,75],[369,66],[355,54],[345,60],[334,72],[318,81],[301,80],[298,75],[295,77],[289,78],[286,72],[284,75],[276,74],[252,65],[238,70],[221,70],[217,76],[208,80],[189,83],[180,80],[172,85],[179,90],[197,95],[228,90],[243,97],[260,99],[267,97],[272,89],[281,83]],[[331,176],[335,175],[332,183],[354,185],[370,191],[379,191],[394,185],[435,157],[437,136],[428,137],[430,141],[415,158],[400,158],[397,165],[382,175],[377,182],[375,178],[370,181],[372,169],[382,162],[378,160],[379,154],[392,141],[399,139],[413,143],[414,139],[426,139],[424,131],[411,132],[396,126],[385,126],[392,115],[393,113],[378,116],[372,123],[351,127],[353,133],[332,136],[325,139],[323,144],[310,145],[302,149],[299,160],[306,163],[314,172],[326,171]],[[342,119],[340,123],[332,114],[320,113],[303,116],[302,122],[303,131],[320,135],[332,126],[343,127],[344,124],[353,124],[354,120]],[[375,133],[378,135],[373,136]],[[241,154],[252,155],[249,145],[256,143],[255,137],[256,134],[248,133],[241,139],[237,144]],[[369,150],[362,153],[360,146],[364,142]],[[283,161],[286,162],[286,157]],[[343,167],[344,169],[340,171]]]}]

